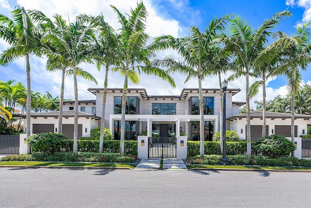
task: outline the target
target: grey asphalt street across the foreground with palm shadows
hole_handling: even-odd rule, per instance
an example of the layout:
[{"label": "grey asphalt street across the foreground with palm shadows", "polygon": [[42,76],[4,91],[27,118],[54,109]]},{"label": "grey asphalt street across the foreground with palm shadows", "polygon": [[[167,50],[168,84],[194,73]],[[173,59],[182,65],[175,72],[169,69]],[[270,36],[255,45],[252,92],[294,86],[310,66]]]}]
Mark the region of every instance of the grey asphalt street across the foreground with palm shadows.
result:
[{"label": "grey asphalt street across the foreground with palm shadows", "polygon": [[0,168],[0,208],[309,208],[311,173]]}]

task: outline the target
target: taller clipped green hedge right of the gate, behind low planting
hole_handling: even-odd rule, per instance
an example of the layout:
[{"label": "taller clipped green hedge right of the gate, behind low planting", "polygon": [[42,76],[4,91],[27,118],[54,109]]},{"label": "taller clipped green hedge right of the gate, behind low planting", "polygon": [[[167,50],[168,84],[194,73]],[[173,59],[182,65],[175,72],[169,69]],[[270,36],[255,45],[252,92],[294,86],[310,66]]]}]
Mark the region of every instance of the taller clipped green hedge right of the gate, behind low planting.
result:
[{"label": "taller clipped green hedge right of the gate, behind low planting", "polygon": [[[252,155],[259,155],[260,152],[253,148]],[[188,156],[200,155],[200,141],[188,141],[187,143]],[[204,155],[219,155],[220,141],[204,141]],[[246,155],[246,141],[227,141],[226,142],[227,155]]]}]

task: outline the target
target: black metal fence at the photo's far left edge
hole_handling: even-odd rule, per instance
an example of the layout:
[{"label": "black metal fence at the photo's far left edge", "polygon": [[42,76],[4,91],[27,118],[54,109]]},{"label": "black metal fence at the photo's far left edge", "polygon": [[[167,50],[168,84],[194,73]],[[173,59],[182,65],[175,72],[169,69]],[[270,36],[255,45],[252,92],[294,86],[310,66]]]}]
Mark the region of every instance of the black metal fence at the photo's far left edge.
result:
[{"label": "black metal fence at the photo's far left edge", "polygon": [[19,135],[0,135],[0,155],[19,154]]}]

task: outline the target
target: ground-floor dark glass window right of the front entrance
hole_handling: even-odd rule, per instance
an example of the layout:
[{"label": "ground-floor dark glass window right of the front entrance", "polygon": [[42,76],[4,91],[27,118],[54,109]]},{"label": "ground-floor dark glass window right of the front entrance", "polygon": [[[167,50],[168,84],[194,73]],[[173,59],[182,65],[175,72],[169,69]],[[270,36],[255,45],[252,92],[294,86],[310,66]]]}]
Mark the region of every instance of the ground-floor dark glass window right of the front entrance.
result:
[{"label": "ground-floor dark glass window right of the front entrance", "polygon": [[[200,122],[191,121],[190,122],[190,140],[199,141],[200,140]],[[204,121],[204,140],[211,141],[214,135],[214,121]]]}]

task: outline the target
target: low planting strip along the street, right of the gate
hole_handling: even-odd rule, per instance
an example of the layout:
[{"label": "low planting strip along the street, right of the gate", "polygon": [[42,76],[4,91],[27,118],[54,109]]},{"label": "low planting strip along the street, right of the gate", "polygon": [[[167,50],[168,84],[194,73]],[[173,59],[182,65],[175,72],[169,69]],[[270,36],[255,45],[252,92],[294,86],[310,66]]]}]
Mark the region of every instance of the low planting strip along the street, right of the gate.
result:
[{"label": "low planting strip along the street, right of the gate", "polygon": [[[187,157],[191,165],[220,165],[220,155],[206,155],[204,158],[200,156]],[[227,156],[230,165],[260,165],[260,166],[307,166],[311,167],[311,160],[298,159],[292,156],[280,156],[269,158],[269,156],[246,156],[235,155]]]}]

